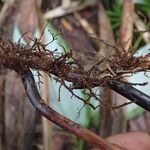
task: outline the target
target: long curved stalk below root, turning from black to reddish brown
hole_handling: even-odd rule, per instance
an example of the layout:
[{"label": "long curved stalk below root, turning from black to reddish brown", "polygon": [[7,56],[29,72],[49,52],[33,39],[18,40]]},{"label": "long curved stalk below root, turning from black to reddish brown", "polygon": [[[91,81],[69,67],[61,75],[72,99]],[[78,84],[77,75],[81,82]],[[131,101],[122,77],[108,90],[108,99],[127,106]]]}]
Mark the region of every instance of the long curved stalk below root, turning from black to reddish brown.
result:
[{"label": "long curved stalk below root, turning from black to reddish brown", "polygon": [[38,110],[41,113],[41,115],[45,116],[48,120],[62,127],[66,131],[82,138],[88,143],[99,147],[101,150],[113,149],[111,144],[107,143],[90,130],[83,128],[79,124],[62,116],[61,114],[57,113],[52,108],[50,108],[48,105],[46,105],[42,100],[41,96],[39,95],[33,75],[30,70],[28,70],[28,72],[26,73],[23,73],[21,77],[29,100],[36,108],[36,110]]}]

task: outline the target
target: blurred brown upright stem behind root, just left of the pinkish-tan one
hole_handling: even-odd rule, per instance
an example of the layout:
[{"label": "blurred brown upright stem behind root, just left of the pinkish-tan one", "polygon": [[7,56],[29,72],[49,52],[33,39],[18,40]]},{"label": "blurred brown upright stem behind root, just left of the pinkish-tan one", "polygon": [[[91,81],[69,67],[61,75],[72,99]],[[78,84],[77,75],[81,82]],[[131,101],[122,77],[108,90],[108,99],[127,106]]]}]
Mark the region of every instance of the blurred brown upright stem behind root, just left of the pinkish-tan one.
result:
[{"label": "blurred brown upright stem behind root, just left of the pinkish-tan one", "polygon": [[[104,40],[110,45],[114,45],[115,40],[113,36],[112,27],[109,18],[106,15],[105,9],[101,2],[98,5],[98,23],[99,23],[99,39]],[[100,43],[98,51],[99,61],[103,57],[109,57],[114,54],[113,48],[108,48],[104,43]],[[100,66],[102,67],[102,66]],[[109,88],[103,88],[101,93],[101,100],[108,105],[112,105],[112,90]],[[111,135],[113,124],[112,109],[104,105],[100,106],[100,135],[107,137]]]}]

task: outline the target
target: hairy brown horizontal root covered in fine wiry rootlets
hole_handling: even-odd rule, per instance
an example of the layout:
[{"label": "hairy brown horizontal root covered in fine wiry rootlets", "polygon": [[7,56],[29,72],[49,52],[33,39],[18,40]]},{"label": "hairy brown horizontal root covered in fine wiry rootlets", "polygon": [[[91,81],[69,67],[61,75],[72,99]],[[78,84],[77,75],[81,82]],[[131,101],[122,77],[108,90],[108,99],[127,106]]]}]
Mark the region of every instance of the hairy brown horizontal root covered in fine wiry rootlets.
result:
[{"label": "hairy brown horizontal root covered in fine wiry rootlets", "polygon": [[[150,69],[150,54],[134,57],[127,53],[116,53],[111,60],[104,59],[90,70],[85,71],[74,59],[71,52],[61,54],[57,50],[48,50],[46,46],[39,41],[37,42],[37,40],[34,41],[34,46],[29,46],[0,37],[0,67],[1,69],[9,68],[18,73],[23,73],[28,69],[44,71],[60,82],[61,86],[63,85],[68,89],[73,96],[94,109],[97,107],[93,106],[89,100],[94,97],[100,101],[100,96],[95,94],[92,88],[107,86],[107,82],[112,79],[125,82],[125,76],[141,71],[146,72]],[[107,64],[107,67],[103,70],[98,69],[101,63]],[[66,81],[71,84],[68,86]],[[81,88],[88,89],[87,99],[83,99],[74,93],[74,89]],[[119,107],[116,106],[116,108]]]}]

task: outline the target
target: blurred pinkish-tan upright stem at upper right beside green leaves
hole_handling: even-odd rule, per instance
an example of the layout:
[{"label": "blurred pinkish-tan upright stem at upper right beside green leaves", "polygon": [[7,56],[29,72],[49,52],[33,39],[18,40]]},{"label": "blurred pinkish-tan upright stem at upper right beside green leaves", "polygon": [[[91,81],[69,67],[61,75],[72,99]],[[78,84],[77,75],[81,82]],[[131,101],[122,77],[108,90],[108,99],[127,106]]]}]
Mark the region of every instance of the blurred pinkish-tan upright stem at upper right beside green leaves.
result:
[{"label": "blurred pinkish-tan upright stem at upper right beside green leaves", "polygon": [[[133,38],[133,15],[134,15],[134,1],[133,0],[123,0],[122,3],[122,19],[121,19],[121,27],[120,27],[120,33],[119,33],[119,46],[122,52],[128,53],[131,45],[132,45],[132,38]],[[122,96],[118,96],[119,103],[122,101],[122,103],[126,102],[126,98]],[[120,110],[119,110],[120,111]],[[125,111],[125,108],[122,108],[122,111]],[[121,112],[122,112],[121,111]],[[121,113],[120,112],[120,113]],[[120,130],[122,132],[126,131],[126,120],[124,116],[122,116],[122,123],[120,126]],[[114,126],[114,128],[116,128]]]}]

